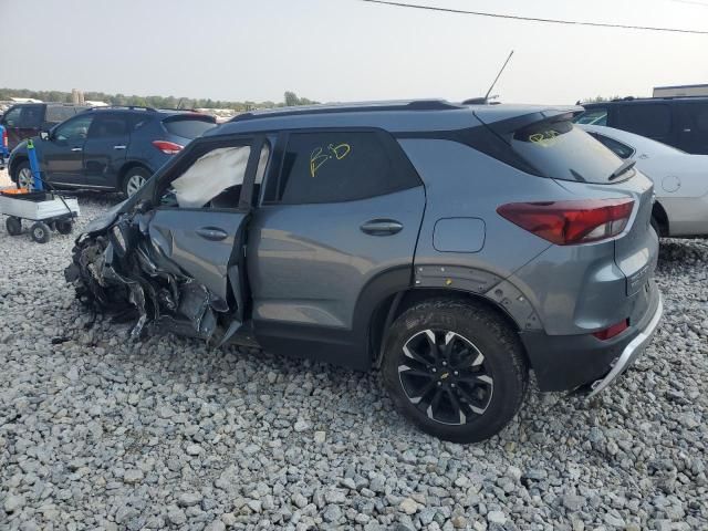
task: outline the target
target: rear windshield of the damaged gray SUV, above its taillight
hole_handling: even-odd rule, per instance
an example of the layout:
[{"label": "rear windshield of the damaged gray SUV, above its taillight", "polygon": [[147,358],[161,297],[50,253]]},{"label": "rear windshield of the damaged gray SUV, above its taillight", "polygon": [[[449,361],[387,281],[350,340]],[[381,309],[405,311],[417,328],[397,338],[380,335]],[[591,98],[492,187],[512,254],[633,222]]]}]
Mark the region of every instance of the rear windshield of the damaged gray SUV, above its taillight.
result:
[{"label": "rear windshield of the damaged gray SUV, above its taillight", "polygon": [[[517,131],[511,147],[541,175],[580,183],[610,183],[622,160],[570,121],[540,122]],[[628,171],[626,179],[633,175]]]}]

